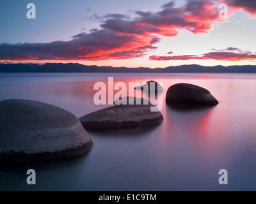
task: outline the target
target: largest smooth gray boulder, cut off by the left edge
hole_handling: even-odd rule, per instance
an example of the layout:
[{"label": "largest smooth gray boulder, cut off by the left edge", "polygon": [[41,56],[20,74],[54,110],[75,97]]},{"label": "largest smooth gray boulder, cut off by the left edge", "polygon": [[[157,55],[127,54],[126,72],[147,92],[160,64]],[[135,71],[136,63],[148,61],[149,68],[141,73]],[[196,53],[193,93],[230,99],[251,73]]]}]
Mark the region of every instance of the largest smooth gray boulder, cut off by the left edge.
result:
[{"label": "largest smooth gray boulder, cut off by the left edge", "polygon": [[0,130],[0,161],[4,162],[75,157],[93,146],[75,115],[38,101],[1,101]]}]

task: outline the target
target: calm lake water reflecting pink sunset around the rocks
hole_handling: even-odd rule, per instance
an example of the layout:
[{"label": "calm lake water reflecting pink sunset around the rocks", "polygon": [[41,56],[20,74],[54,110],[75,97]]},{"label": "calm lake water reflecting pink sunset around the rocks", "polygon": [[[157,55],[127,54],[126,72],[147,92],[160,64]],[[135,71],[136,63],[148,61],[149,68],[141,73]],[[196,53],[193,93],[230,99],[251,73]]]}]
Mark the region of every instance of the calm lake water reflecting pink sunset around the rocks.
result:
[{"label": "calm lake water reflecting pink sunset around the rocks", "polygon": [[[0,101],[33,99],[81,117],[96,82],[163,82],[164,121],[156,127],[88,131],[94,146],[72,161],[0,168],[1,191],[256,191],[256,75],[149,73],[1,73]],[[208,89],[220,104],[180,111],[165,104],[168,87]],[[26,170],[36,170],[36,185]],[[220,185],[219,170],[228,171]]]}]

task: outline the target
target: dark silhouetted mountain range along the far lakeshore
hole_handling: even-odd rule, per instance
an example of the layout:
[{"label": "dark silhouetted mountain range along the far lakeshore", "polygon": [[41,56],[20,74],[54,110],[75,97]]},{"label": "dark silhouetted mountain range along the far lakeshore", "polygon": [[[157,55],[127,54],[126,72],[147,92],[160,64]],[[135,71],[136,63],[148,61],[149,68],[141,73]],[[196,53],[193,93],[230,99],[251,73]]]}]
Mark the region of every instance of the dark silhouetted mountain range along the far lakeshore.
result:
[{"label": "dark silhouetted mountain range along the far lakeshore", "polygon": [[86,66],[78,63],[0,64],[0,72],[32,73],[256,73],[256,65],[200,66],[197,64],[169,66],[166,68],[126,68],[111,66]]}]

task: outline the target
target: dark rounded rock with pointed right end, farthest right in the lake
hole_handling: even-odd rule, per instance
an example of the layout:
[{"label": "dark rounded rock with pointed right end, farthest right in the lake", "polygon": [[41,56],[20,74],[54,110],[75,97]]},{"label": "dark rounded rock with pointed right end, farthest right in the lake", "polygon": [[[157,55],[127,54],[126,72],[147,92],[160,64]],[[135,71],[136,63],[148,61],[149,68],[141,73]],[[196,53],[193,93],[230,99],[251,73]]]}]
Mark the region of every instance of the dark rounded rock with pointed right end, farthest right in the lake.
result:
[{"label": "dark rounded rock with pointed right end, farthest right in the lake", "polygon": [[219,102],[207,89],[193,84],[180,83],[169,87],[166,93],[166,103],[168,105],[214,106]]}]

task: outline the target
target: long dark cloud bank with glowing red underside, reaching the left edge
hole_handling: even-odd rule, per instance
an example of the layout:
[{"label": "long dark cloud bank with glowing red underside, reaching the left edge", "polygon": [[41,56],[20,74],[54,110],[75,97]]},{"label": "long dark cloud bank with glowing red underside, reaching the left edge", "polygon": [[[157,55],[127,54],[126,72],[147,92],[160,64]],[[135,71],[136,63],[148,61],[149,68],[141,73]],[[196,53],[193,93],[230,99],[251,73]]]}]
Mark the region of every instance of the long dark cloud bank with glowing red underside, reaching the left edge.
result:
[{"label": "long dark cloud bank with glowing red underside, reaching the left edge", "polygon": [[155,49],[160,39],[153,36],[120,35],[108,29],[94,29],[92,33],[79,33],[71,41],[51,43],[3,43],[3,60],[106,60],[130,59],[143,56]]}]

